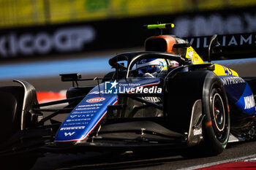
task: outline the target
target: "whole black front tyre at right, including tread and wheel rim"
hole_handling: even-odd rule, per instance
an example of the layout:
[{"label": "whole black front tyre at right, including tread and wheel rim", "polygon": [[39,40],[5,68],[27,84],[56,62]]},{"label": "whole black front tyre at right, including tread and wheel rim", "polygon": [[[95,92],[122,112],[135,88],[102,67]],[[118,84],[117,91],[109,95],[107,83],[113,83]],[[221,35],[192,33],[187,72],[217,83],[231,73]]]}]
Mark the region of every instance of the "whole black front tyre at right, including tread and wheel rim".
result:
[{"label": "whole black front tyre at right, including tread and wheel rim", "polygon": [[218,155],[227,145],[230,115],[225,88],[210,71],[179,72],[166,82],[165,110],[170,130],[189,131],[195,101],[201,100],[203,141],[181,153],[186,158]]}]

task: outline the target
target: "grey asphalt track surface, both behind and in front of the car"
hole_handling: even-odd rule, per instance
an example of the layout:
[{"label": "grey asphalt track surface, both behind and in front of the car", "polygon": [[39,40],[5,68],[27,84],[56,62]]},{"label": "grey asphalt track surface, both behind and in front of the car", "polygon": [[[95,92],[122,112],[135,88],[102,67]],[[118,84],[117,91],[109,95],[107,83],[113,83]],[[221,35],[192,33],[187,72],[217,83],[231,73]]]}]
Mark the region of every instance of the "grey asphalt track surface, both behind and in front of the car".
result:
[{"label": "grey asphalt track surface, both behind and in front of the car", "polygon": [[[254,62],[226,63],[226,66],[238,71],[241,77],[256,76]],[[239,63],[239,64],[238,64]],[[91,74],[86,77],[102,77],[103,74]],[[85,77],[84,77],[85,78]],[[61,82],[60,77],[26,79],[39,91],[59,91],[71,86],[70,82]],[[14,82],[1,81],[1,85],[15,85]],[[64,119],[65,117],[60,117]],[[208,158],[185,159],[178,151],[167,150],[165,152],[147,152],[146,154],[134,154],[126,152],[86,152],[78,155],[60,155],[47,153],[39,158],[33,170],[46,169],[196,169],[209,166],[211,163],[223,163],[225,161],[238,161],[242,158],[256,157],[256,142],[229,144],[225,152],[218,156]]]}]

